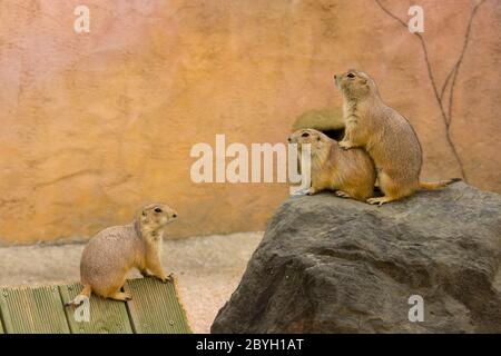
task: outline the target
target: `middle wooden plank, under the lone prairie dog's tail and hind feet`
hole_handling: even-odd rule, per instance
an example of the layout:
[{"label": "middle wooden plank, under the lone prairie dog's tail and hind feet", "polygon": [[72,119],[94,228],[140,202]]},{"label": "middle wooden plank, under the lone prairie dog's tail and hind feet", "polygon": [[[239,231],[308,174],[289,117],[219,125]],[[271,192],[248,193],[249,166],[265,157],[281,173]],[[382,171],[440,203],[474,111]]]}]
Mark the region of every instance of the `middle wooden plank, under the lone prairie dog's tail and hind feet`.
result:
[{"label": "middle wooden plank, under the lone prairie dog's tail and hind feet", "polygon": [[[63,303],[72,300],[82,289],[79,283],[59,286]],[[127,307],[124,301],[104,299],[92,295],[89,305],[89,322],[77,322],[76,306],[65,308],[72,334],[131,334]],[[81,314],[79,314],[81,316]],[[81,317],[80,317],[81,318]]]}]

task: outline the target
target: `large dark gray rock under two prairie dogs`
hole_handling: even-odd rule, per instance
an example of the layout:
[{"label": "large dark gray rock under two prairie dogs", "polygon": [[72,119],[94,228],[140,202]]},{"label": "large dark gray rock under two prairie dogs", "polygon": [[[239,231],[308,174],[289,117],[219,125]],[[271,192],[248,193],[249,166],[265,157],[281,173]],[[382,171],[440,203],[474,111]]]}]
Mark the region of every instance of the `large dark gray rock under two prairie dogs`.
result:
[{"label": "large dark gray rock under two prairie dogs", "polygon": [[463,182],[383,207],[291,197],[212,332],[501,333],[500,266],[501,197]]}]

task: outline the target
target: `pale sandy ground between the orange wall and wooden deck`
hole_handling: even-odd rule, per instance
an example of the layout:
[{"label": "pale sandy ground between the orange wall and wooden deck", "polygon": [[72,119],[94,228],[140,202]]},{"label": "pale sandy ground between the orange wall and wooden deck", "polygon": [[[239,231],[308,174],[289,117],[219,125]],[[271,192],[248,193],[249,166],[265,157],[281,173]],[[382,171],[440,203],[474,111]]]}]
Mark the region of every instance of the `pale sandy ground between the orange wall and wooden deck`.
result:
[{"label": "pale sandy ground between the orange wall and wooden deck", "polygon": [[[164,268],[178,278],[179,293],[195,333],[208,333],[237,287],[263,233],[193,237],[164,241]],[[79,279],[85,245],[0,248],[0,285],[53,284]],[[139,276],[137,271],[130,276]]]}]

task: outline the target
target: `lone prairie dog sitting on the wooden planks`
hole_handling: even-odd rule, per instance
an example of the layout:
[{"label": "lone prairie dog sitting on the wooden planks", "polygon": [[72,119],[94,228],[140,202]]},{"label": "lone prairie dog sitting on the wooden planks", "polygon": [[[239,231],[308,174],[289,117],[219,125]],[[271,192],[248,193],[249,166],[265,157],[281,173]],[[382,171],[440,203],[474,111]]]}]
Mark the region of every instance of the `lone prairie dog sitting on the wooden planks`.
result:
[{"label": "lone prairie dog sitting on the wooden planks", "polygon": [[176,217],[177,212],[167,205],[151,204],[143,208],[134,222],[106,228],[92,237],[80,260],[84,290],[67,305],[80,305],[92,291],[105,298],[131,299],[120,289],[134,267],[145,277],[166,283],[169,276],[160,263],[161,241],[164,228]]}]

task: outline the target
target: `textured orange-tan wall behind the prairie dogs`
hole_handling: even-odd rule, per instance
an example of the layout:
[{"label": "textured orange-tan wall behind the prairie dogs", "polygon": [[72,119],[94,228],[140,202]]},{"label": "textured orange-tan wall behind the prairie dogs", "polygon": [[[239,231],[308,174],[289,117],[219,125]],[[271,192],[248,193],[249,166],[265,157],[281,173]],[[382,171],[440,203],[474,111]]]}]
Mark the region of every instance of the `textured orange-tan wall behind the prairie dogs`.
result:
[{"label": "textured orange-tan wall behind the prairie dogs", "polygon": [[[77,4],[90,33],[72,30]],[[179,211],[175,236],[258,230],[285,185],[195,185],[197,142],[277,142],[304,111],[336,107],[356,67],[414,125],[424,178],[460,176],[414,1],[4,0],[0,2],[0,241],[87,237],[144,202]],[[468,180],[501,191],[501,2],[420,1],[424,43]],[[383,8],[391,11],[385,12]],[[461,56],[463,53],[463,56]]]}]

